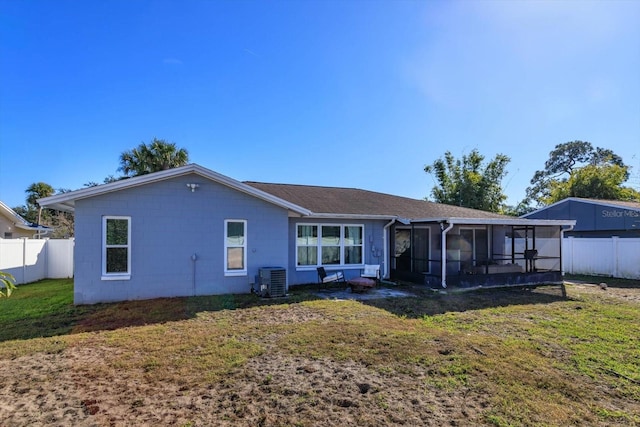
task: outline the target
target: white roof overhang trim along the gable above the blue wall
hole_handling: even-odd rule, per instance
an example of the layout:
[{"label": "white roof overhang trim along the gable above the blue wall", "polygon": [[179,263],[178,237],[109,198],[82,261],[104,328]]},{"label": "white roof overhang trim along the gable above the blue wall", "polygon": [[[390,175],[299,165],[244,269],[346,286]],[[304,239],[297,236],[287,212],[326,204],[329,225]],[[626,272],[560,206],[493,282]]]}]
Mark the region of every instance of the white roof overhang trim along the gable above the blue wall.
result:
[{"label": "white roof overhang trim along the gable above the blue wall", "polygon": [[229,178],[228,176],[219,174],[217,172],[214,172],[210,169],[204,168],[197,164],[189,164],[186,166],[181,166],[179,168],[169,169],[166,171],[155,172],[147,175],[141,175],[133,178],[123,179],[123,180],[112,182],[109,184],[83,188],[80,190],[57,194],[50,197],[44,197],[42,199],[39,199],[38,203],[40,204],[40,206],[57,209],[65,212],[73,212],[75,210],[75,203],[78,200],[88,199],[91,197],[113,193],[120,190],[140,187],[143,185],[161,182],[168,179],[172,179],[172,178],[176,178],[184,175],[190,175],[190,174],[196,174],[198,176],[201,176],[202,178],[233,188],[234,190],[240,191],[242,193],[245,193],[250,196],[256,197],[258,199],[264,200],[266,202],[272,203],[276,206],[280,206],[289,211],[293,211],[295,214],[298,214],[298,215],[306,216],[311,214],[311,211],[309,211],[308,209],[305,209],[301,206],[298,206],[286,200],[275,197],[269,193],[265,193],[264,191],[258,190],[257,188],[251,187],[247,184],[243,184],[240,181],[236,181],[235,179]]}]

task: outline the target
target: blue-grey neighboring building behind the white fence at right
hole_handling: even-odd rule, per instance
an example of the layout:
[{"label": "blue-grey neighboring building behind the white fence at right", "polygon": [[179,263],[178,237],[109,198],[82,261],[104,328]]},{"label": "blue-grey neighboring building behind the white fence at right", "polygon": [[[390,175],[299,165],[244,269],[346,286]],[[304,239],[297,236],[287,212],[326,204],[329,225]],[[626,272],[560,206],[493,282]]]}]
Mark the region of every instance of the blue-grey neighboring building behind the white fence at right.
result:
[{"label": "blue-grey neighboring building behind the white fence at right", "polygon": [[567,237],[640,237],[640,202],[569,197],[523,218],[573,219]]}]

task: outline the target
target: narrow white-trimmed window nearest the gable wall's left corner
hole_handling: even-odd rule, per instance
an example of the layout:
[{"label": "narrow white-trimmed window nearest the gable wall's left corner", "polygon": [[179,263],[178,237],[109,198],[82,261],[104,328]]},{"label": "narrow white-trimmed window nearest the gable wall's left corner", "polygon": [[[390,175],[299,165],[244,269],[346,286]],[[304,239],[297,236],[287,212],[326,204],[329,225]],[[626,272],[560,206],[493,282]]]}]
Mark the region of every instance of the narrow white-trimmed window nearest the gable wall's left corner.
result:
[{"label": "narrow white-trimmed window nearest the gable wall's left corner", "polygon": [[102,278],[131,276],[131,217],[102,217]]}]

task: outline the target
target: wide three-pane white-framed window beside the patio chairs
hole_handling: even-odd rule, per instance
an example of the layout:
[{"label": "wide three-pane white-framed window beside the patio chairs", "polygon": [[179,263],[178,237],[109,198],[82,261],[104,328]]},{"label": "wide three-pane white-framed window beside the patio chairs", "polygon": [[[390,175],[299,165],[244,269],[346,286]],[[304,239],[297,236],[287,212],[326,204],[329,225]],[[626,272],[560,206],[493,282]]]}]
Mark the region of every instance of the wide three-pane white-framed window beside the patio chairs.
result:
[{"label": "wide three-pane white-framed window beside the patio chairs", "polygon": [[364,263],[364,225],[297,224],[296,228],[298,266]]}]

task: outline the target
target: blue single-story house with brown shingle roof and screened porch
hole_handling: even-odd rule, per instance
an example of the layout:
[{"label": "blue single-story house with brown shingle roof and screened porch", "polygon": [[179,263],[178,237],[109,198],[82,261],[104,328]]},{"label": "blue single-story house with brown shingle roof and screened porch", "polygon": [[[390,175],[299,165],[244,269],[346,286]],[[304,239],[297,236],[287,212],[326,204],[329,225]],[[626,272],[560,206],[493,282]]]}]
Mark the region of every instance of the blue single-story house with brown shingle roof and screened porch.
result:
[{"label": "blue single-story house with brown shingle roof and screened porch", "polygon": [[[75,214],[77,304],[247,293],[317,268],[429,286],[560,282],[574,221],[528,220],[354,188],[239,182],[191,164],[41,199]],[[445,248],[445,250],[442,250]]]}]

